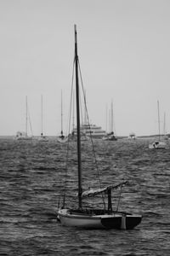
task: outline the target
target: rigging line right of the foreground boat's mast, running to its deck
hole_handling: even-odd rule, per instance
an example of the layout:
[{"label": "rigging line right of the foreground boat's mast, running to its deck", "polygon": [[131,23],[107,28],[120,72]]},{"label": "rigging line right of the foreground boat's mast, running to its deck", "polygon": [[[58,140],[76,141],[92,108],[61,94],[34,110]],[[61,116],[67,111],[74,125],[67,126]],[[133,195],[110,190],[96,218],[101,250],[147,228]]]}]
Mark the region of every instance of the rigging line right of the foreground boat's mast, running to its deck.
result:
[{"label": "rigging line right of the foreground boat's mast, running to its deck", "polygon": [[[82,83],[82,72],[81,72],[79,60],[78,60],[78,67],[79,67],[80,78],[81,78],[81,83]],[[82,83],[82,92],[83,92],[83,99],[84,99],[85,110],[86,110],[86,113],[87,113],[88,126],[89,126],[89,129],[91,129],[90,124],[89,124],[88,108],[87,108],[87,104],[86,104],[86,98],[85,98],[85,92],[84,92],[83,83]],[[96,169],[97,169],[97,174],[98,174],[98,179],[99,179],[99,188],[101,189],[101,182],[100,182],[100,178],[99,178],[99,166],[98,166],[98,162],[96,160],[96,154],[95,154],[95,151],[94,151],[94,142],[93,142],[93,139],[91,137],[91,131],[90,131],[90,141],[92,143],[93,154],[94,154],[94,161],[95,161],[95,166],[96,166]],[[105,206],[105,200],[104,200],[103,193],[101,193],[101,195],[102,195],[103,204]]]}]

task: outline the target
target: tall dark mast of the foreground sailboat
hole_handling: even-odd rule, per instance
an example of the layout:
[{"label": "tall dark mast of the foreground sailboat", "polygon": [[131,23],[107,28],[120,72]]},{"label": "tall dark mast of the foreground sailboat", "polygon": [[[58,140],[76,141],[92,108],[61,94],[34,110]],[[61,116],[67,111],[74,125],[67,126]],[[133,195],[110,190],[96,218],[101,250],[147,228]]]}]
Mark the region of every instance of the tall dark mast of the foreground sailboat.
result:
[{"label": "tall dark mast of the foreground sailboat", "polygon": [[77,97],[78,207],[82,208],[82,161],[81,161],[80,105],[79,105],[77,26],[76,25],[75,25],[75,65],[76,65],[76,97]]}]

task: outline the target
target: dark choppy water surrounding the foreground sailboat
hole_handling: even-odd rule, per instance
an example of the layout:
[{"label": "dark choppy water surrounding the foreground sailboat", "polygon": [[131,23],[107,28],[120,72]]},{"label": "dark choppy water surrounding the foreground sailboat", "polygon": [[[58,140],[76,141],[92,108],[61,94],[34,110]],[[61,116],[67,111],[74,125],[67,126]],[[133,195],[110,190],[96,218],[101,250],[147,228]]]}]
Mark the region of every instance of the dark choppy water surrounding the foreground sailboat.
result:
[{"label": "dark choppy water surrounding the foreground sailboat", "polygon": [[[142,213],[142,223],[135,230],[77,230],[56,221],[65,178],[64,146],[53,140],[0,139],[0,255],[169,255],[170,145],[152,151],[148,143],[94,142],[101,182],[128,180],[120,210]],[[82,146],[83,183],[93,186],[92,154],[88,143]],[[75,192],[75,143],[71,151],[68,185]],[[71,198],[67,203],[71,205]]]}]

